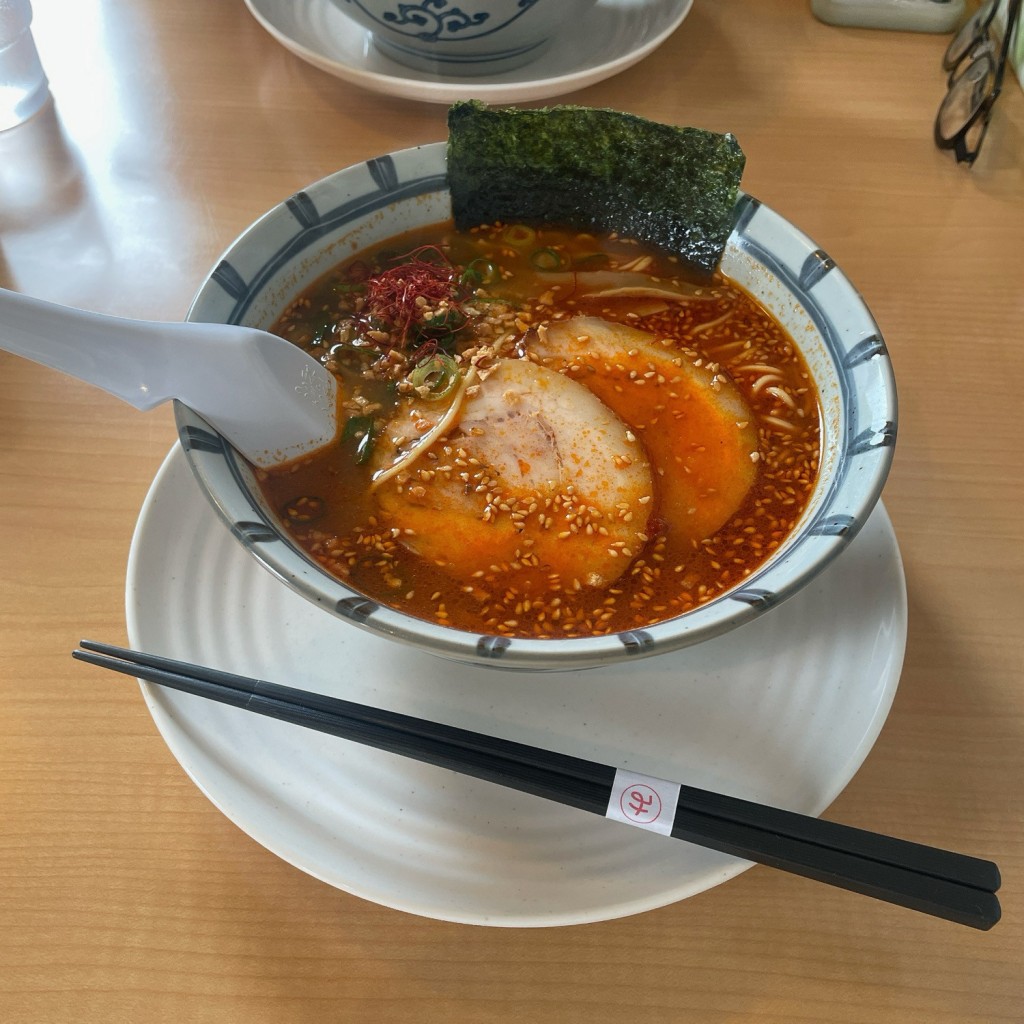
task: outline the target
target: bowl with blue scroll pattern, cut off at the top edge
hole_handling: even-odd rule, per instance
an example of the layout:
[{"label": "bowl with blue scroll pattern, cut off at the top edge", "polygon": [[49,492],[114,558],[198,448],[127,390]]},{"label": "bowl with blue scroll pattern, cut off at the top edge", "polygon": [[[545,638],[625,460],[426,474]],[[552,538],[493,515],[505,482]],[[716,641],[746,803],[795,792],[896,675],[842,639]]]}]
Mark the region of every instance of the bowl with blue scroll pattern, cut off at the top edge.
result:
[{"label": "bowl with blue scroll pattern, cut off at the top edge", "polygon": [[444,77],[497,75],[539,57],[597,0],[332,0],[385,56]]}]

